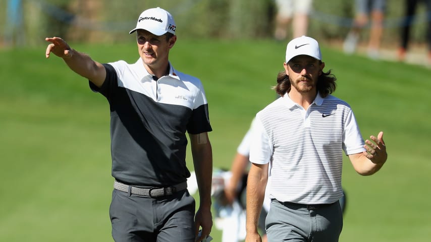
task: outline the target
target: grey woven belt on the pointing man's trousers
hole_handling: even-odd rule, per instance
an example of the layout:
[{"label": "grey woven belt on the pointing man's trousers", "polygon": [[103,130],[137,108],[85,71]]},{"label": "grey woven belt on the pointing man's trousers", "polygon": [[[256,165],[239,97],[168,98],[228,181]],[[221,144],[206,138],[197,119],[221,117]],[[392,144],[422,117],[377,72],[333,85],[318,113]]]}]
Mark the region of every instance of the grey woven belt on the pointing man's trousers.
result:
[{"label": "grey woven belt on the pointing man's trousers", "polygon": [[180,183],[175,186],[171,186],[167,188],[137,188],[124,183],[120,183],[120,181],[115,180],[114,189],[125,193],[128,193],[130,189],[131,194],[144,196],[148,198],[156,198],[156,197],[173,195],[176,192],[187,189],[187,181],[184,181],[184,183]]}]

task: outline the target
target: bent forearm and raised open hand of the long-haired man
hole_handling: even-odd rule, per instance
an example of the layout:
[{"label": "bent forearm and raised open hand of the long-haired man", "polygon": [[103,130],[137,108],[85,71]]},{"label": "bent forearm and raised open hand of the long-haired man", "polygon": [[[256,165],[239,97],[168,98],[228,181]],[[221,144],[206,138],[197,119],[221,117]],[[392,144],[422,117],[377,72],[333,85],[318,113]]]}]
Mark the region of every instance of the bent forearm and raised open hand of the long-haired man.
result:
[{"label": "bent forearm and raised open hand of the long-haired man", "polygon": [[372,175],[379,171],[388,159],[383,132],[377,137],[370,136],[370,140],[365,141],[364,148],[366,151],[349,155],[349,159],[356,172],[361,175]]}]

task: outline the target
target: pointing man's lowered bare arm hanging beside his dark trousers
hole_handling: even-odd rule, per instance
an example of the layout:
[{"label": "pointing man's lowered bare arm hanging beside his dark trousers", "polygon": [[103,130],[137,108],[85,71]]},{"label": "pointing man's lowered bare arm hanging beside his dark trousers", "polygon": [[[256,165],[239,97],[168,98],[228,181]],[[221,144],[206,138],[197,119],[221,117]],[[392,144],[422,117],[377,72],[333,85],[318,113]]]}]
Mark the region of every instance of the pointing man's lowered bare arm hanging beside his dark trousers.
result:
[{"label": "pointing man's lowered bare arm hanging beside his dark trousers", "polygon": [[190,135],[190,146],[193,156],[193,164],[199,189],[199,208],[195,216],[196,235],[199,227],[202,227],[201,241],[209,235],[212,227],[211,216],[211,183],[212,183],[212,148],[207,133]]}]

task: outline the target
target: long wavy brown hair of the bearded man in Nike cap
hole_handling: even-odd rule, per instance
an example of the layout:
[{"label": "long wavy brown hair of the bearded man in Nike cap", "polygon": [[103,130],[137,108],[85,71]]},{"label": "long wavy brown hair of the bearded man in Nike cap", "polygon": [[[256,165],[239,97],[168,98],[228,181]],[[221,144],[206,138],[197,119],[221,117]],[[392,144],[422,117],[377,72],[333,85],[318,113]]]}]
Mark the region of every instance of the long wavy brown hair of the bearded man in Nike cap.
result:
[{"label": "long wavy brown hair of the bearded man in Nike cap", "polygon": [[[317,91],[320,93],[321,97],[326,97],[329,94],[335,92],[337,84],[335,81],[337,78],[334,74],[331,73],[331,70],[328,72],[322,72],[322,74],[317,79]],[[289,80],[289,76],[285,71],[279,72],[277,75],[277,86],[273,87],[276,90],[277,94],[280,96],[284,96],[284,94],[290,92],[291,84]]]}]

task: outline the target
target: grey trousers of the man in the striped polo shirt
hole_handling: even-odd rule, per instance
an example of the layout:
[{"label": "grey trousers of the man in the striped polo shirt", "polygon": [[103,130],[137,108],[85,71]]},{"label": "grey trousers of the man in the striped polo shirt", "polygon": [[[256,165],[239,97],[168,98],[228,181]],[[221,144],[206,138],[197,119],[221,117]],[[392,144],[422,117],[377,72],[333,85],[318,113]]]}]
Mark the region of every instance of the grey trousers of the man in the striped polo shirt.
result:
[{"label": "grey trousers of the man in the striped polo shirt", "polygon": [[337,242],[343,228],[340,203],[308,210],[272,200],[266,217],[268,241]]}]

